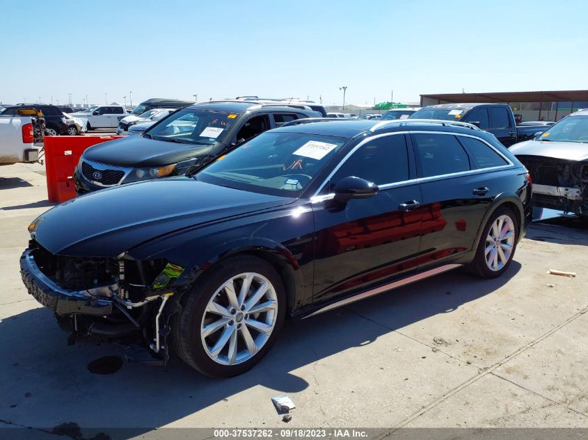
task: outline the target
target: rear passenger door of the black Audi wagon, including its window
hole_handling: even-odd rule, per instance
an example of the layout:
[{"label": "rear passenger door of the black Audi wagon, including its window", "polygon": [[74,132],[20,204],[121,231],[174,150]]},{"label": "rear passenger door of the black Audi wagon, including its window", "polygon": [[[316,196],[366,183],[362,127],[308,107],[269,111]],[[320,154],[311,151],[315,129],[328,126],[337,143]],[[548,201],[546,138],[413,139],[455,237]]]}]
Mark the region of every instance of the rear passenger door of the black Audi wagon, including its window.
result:
[{"label": "rear passenger door of the black Audi wagon, including its window", "polygon": [[[484,214],[500,190],[492,172],[509,163],[479,138],[436,131],[411,133],[411,140],[424,208],[420,267],[427,268],[472,249]],[[488,149],[488,158],[482,158],[482,151],[477,163],[466,147],[477,151],[480,145]]]}]

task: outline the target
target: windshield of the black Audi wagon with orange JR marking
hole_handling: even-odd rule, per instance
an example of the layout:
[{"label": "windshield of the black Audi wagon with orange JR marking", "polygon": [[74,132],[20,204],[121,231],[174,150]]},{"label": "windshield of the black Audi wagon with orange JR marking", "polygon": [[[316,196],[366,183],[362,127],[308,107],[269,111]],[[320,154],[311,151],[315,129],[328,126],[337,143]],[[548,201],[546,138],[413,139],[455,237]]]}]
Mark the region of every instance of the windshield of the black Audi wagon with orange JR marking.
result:
[{"label": "windshield of the black Audi wagon with orange JR marking", "polygon": [[265,132],[217,158],[198,172],[196,179],[254,193],[296,197],[347,140],[308,133]]}]

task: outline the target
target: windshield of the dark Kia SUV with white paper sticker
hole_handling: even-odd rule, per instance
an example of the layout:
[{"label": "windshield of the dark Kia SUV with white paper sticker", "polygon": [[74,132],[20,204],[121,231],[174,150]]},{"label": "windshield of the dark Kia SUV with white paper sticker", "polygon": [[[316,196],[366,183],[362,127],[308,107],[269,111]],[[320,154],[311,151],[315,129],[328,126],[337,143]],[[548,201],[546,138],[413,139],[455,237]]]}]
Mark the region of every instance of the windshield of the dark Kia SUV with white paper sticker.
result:
[{"label": "windshield of the dark Kia SUV with white paper sticker", "polygon": [[145,133],[157,140],[189,144],[213,145],[223,142],[237,113],[184,108]]}]

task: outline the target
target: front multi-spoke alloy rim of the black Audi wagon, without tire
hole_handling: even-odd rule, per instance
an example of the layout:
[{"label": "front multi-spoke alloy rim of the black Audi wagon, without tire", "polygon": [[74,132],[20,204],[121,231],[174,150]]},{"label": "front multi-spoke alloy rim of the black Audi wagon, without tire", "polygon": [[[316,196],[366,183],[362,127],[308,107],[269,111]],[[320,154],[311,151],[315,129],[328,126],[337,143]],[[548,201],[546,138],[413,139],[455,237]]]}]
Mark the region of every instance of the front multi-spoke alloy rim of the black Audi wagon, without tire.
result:
[{"label": "front multi-spoke alloy rim of the black Audi wagon, without tire", "polygon": [[210,298],[200,325],[207,355],[221,365],[241,364],[267,343],[278,318],[278,297],[255,272],[235,275]]}]

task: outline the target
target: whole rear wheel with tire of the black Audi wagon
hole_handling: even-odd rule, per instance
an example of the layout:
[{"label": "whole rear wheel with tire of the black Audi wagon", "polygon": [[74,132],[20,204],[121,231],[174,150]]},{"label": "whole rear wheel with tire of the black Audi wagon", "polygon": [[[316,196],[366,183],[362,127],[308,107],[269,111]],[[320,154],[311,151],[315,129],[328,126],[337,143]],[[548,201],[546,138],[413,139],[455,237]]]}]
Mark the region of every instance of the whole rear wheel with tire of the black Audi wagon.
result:
[{"label": "whole rear wheel with tire of the black Audi wagon", "polygon": [[511,209],[496,209],[482,231],[474,261],[466,268],[482,278],[500,277],[509,268],[516,250],[517,223]]}]

